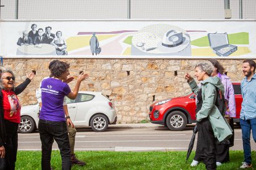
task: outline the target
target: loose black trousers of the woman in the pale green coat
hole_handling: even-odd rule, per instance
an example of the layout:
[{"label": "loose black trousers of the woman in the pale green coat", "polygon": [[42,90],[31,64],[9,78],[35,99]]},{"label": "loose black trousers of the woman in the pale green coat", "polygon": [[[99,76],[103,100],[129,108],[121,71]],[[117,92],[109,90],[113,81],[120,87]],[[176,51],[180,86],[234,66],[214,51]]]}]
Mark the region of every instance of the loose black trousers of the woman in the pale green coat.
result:
[{"label": "loose black trousers of the woman in the pale green coat", "polygon": [[196,161],[202,161],[206,169],[216,169],[215,137],[208,118],[197,122],[198,136],[195,150]]}]

